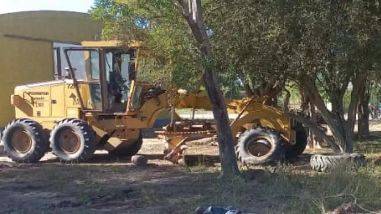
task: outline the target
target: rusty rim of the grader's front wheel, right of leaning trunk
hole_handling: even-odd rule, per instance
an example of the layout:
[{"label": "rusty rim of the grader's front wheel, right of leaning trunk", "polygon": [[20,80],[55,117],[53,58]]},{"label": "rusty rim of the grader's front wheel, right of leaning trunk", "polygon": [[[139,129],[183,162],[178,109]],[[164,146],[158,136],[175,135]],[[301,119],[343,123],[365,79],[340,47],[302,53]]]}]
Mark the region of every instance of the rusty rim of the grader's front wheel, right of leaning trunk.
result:
[{"label": "rusty rim of the grader's front wheel, right of leaning trunk", "polygon": [[266,136],[253,138],[247,144],[247,152],[253,157],[263,157],[271,150],[271,140]]}]

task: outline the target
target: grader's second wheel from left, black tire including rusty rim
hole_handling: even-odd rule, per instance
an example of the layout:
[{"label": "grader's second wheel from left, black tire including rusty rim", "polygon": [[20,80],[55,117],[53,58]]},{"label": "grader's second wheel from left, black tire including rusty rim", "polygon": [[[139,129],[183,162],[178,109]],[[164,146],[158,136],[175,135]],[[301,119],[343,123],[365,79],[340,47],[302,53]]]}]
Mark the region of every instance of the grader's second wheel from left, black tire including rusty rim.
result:
[{"label": "grader's second wheel from left, black tire including rusty rim", "polygon": [[95,134],[86,121],[77,118],[61,120],[50,133],[52,153],[63,163],[85,162],[96,150]]}]

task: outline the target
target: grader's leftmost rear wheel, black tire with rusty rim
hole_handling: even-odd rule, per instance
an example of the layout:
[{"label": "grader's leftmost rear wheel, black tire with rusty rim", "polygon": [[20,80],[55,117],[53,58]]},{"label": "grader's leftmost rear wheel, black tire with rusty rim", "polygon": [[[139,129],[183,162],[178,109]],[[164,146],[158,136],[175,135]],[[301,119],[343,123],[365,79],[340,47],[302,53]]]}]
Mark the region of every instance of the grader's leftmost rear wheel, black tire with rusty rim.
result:
[{"label": "grader's leftmost rear wheel, black tire with rusty rim", "polygon": [[16,163],[37,163],[49,146],[42,126],[28,118],[8,123],[2,141],[6,154]]}]

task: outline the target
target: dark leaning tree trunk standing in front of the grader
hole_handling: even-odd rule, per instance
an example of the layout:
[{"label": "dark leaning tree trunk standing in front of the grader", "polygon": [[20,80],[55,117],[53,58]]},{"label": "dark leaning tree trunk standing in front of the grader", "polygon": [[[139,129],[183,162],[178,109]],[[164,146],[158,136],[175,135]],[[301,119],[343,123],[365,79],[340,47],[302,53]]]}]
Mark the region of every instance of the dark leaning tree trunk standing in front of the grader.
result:
[{"label": "dark leaning tree trunk standing in front of the grader", "polygon": [[202,19],[201,0],[178,0],[181,15],[188,22],[192,33],[200,45],[200,55],[203,60],[202,78],[208,97],[212,104],[213,116],[217,128],[217,140],[221,157],[221,173],[223,176],[239,174],[233,147],[233,134],[229,125],[223,93],[216,78],[216,67],[213,64],[213,52],[208,39],[205,24]]}]

